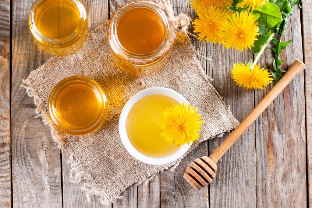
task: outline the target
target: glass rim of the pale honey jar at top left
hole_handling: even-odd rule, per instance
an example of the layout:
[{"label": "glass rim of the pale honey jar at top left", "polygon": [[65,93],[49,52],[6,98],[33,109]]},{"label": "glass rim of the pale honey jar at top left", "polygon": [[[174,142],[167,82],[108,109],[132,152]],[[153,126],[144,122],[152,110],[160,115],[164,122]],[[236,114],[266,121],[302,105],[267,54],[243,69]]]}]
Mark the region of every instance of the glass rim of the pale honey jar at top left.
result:
[{"label": "glass rim of the pale honey jar at top left", "polygon": [[79,10],[80,14],[80,21],[77,26],[77,28],[68,36],[59,38],[59,39],[54,39],[54,38],[48,38],[44,35],[41,34],[41,32],[38,30],[36,23],[35,23],[35,13],[38,8],[38,6],[46,0],[37,0],[32,4],[32,7],[30,8],[29,11],[29,18],[28,18],[28,24],[30,31],[32,32],[32,35],[41,43],[44,43],[45,45],[48,46],[66,46],[67,44],[72,43],[75,41],[82,33],[84,33],[86,27],[87,27],[87,13],[85,10],[85,7],[83,6],[82,2],[80,0],[70,0],[73,2],[76,7]]}]

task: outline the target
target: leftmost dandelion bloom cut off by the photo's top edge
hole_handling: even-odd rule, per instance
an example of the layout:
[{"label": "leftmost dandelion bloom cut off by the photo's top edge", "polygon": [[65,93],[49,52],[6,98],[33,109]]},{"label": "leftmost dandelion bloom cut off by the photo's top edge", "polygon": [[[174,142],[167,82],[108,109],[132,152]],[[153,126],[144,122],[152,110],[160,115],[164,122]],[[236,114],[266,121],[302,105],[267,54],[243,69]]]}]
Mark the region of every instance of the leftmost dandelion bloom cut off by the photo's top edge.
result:
[{"label": "leftmost dandelion bloom cut off by the photo's top edge", "polygon": [[233,0],[189,0],[191,7],[196,9],[197,13],[206,12],[211,7],[220,7],[227,9],[227,6],[231,6]]}]

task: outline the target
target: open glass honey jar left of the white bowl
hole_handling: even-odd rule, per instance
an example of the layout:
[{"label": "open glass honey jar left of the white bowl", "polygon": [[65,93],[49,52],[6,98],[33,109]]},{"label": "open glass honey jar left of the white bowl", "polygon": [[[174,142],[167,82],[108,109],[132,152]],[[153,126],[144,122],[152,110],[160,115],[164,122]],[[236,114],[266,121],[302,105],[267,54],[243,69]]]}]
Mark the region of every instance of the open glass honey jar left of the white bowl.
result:
[{"label": "open glass honey jar left of the white bowl", "polygon": [[103,88],[85,76],[61,80],[51,91],[48,109],[57,128],[72,135],[89,134],[103,123],[107,114]]}]

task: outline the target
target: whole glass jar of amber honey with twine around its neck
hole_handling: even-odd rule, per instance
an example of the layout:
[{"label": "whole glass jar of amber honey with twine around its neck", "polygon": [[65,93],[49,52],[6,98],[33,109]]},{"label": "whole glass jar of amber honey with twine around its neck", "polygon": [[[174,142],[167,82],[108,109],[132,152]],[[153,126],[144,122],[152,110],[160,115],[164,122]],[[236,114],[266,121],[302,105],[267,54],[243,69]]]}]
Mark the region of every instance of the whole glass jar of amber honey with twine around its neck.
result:
[{"label": "whole glass jar of amber honey with twine around its neck", "polygon": [[169,23],[155,3],[134,1],[110,19],[107,41],[116,64],[132,75],[149,75],[162,68],[171,49]]}]

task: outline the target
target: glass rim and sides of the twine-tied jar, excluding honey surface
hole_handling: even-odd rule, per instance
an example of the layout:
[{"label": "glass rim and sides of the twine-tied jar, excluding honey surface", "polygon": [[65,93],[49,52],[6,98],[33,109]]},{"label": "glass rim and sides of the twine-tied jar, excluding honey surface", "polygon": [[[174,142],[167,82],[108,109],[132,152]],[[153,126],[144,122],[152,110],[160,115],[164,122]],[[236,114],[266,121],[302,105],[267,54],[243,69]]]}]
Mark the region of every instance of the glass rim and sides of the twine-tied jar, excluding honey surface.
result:
[{"label": "glass rim and sides of the twine-tied jar, excluding honey surface", "polygon": [[[130,10],[137,8],[144,8],[154,12],[155,17],[159,18],[163,24],[164,36],[162,42],[158,48],[146,54],[138,54],[125,49],[119,40],[117,32],[121,17]],[[166,63],[164,57],[169,53],[172,46],[172,41],[169,37],[169,23],[164,11],[156,3],[147,1],[129,2],[120,7],[109,21],[107,41],[116,64],[125,72],[136,76],[150,75],[160,70]]]}]

